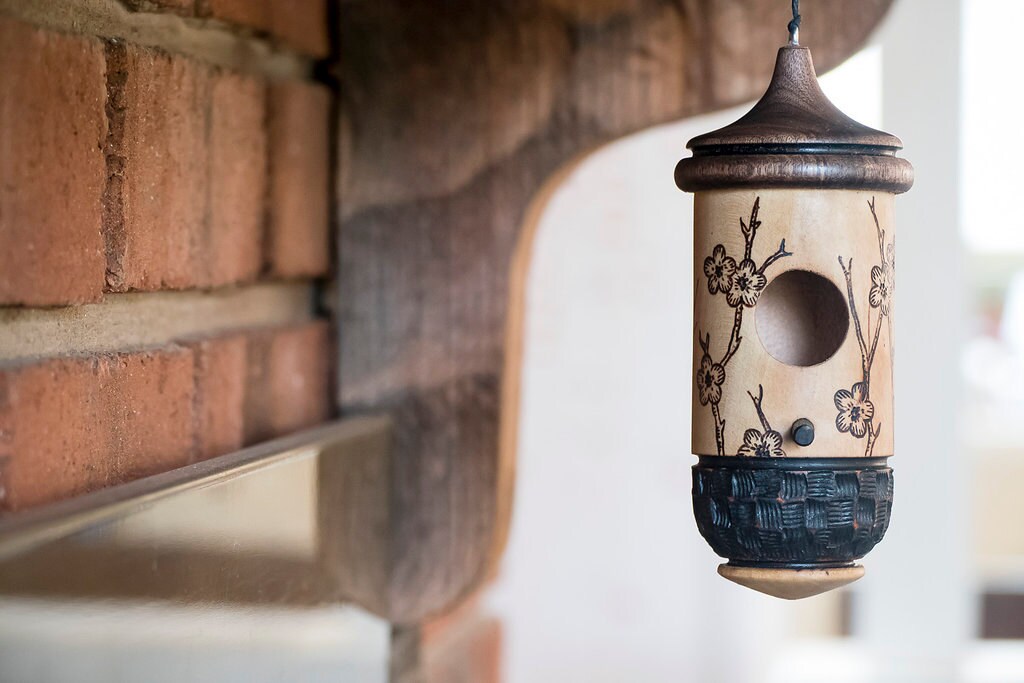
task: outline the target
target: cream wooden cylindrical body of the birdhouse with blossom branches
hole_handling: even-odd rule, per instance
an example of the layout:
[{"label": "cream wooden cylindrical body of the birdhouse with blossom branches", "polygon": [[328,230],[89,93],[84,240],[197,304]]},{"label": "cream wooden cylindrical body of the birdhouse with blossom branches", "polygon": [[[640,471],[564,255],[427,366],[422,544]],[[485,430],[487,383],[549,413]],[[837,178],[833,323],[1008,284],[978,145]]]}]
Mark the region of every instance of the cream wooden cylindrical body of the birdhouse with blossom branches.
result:
[{"label": "cream wooden cylindrical body of the birdhouse with blossom branches", "polygon": [[694,454],[893,455],[892,194],[698,191],[694,258]]}]

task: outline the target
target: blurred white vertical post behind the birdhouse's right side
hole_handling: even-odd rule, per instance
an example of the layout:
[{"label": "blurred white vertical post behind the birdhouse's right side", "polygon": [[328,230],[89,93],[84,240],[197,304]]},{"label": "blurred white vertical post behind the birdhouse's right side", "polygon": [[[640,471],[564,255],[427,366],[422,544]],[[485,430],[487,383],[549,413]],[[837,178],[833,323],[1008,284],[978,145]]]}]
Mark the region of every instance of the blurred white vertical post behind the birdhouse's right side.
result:
[{"label": "blurred white vertical post behind the birdhouse's right side", "polygon": [[[915,167],[896,203],[896,499],[857,630],[885,681],[951,681],[974,612],[971,469],[957,418],[966,319],[961,201],[961,2],[899,0],[884,27],[885,125]],[[993,16],[994,20],[997,20]]]}]

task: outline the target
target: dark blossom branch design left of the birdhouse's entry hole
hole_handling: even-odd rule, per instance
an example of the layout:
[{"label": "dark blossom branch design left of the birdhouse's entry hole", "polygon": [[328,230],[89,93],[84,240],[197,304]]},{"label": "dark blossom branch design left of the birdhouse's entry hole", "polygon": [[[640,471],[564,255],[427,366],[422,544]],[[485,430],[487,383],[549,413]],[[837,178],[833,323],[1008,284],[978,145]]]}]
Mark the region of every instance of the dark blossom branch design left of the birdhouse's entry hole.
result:
[{"label": "dark blossom branch design left of the birdhouse's entry hole", "polygon": [[[726,302],[733,309],[732,329],[729,332],[721,360],[716,361],[712,357],[711,333],[702,334],[699,329],[697,330],[697,343],[701,350],[700,362],[694,378],[697,397],[700,399],[701,405],[711,405],[712,416],[715,419],[715,444],[720,456],[725,455],[725,422],[722,420],[719,403],[722,401],[726,368],[743,341],[741,334],[743,311],[757,304],[761,292],[767,286],[768,278],[765,271],[780,258],[793,256],[791,252],[785,250],[785,240],[782,240],[778,249],[768,256],[760,266],[753,260],[754,243],[757,239],[758,228],[761,227],[760,212],[761,198],[758,197],[754,200],[750,218],[746,221],[742,217],[739,218],[739,230],[743,236],[743,257],[739,263],[736,263],[736,260],[728,255],[725,246],[721,244],[715,246],[711,256],[707,257],[703,263],[705,276],[708,279],[708,292],[713,296],[724,294]],[[761,394],[763,396],[763,389],[761,389]],[[753,398],[753,394],[751,396]],[[759,413],[761,411],[760,401],[759,398],[755,402]],[[767,421],[763,420],[762,424],[766,425]],[[766,433],[771,432],[768,427],[765,427],[765,430]],[[756,430],[748,430],[748,433],[750,431]],[[778,432],[772,433],[777,434]],[[781,436],[779,436],[778,452],[779,455],[784,455],[781,453]]]}]

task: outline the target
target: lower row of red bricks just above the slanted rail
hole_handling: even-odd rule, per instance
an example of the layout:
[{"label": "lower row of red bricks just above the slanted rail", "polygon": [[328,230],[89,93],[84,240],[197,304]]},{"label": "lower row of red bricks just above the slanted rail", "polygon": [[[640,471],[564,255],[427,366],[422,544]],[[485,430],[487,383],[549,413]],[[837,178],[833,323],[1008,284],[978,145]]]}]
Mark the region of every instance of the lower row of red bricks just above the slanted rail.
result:
[{"label": "lower row of red bricks just above the slanted rail", "polygon": [[164,472],[331,417],[326,321],[0,366],[0,511]]}]

